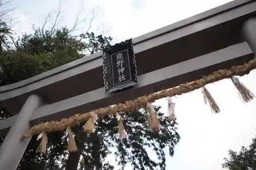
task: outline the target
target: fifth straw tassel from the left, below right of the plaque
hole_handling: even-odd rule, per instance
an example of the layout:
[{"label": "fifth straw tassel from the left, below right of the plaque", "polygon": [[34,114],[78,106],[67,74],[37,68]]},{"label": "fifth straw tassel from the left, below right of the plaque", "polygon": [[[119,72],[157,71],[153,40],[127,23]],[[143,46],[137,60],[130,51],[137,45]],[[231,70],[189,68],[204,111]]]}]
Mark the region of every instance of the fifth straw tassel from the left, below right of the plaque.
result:
[{"label": "fifth straw tassel from the left, below right of the plaque", "polygon": [[146,109],[148,111],[148,124],[152,131],[158,131],[160,123],[156,115],[156,111],[150,103],[146,104]]}]

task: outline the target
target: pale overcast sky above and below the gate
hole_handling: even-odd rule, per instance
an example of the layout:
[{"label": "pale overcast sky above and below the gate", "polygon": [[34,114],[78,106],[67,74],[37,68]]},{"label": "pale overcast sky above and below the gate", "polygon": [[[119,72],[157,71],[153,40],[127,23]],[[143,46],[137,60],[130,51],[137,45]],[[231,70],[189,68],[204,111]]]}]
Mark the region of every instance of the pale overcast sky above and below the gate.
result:
[{"label": "pale overcast sky above and below the gate", "polygon": [[[88,15],[88,20],[79,26],[76,33],[86,32],[94,9],[91,31],[111,35],[115,42],[119,42],[228,2],[230,0],[61,0],[61,17],[57,27],[71,28],[81,10],[80,18]],[[16,9],[5,19],[12,16],[12,27],[20,35],[31,32],[32,25],[40,26],[40,20],[44,20],[49,13],[54,16],[58,5],[59,2],[53,0],[14,0],[12,7]],[[51,18],[49,21],[51,24]],[[255,75],[256,71],[252,71],[240,80],[256,94]],[[167,156],[166,169],[220,170],[227,151],[239,151],[241,145],[249,145],[256,134],[255,100],[242,104],[230,80],[207,85],[207,88],[222,108],[219,115],[213,115],[209,106],[204,105],[200,90],[174,99],[181,140],[175,148],[174,157]],[[165,99],[156,103],[166,112]]]}]

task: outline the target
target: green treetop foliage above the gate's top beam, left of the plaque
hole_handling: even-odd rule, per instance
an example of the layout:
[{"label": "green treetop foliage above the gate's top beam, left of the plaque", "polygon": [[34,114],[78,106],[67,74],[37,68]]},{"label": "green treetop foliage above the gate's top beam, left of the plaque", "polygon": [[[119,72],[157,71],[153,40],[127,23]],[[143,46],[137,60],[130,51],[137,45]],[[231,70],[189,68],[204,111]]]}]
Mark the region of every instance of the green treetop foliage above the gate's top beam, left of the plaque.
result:
[{"label": "green treetop foliage above the gate's top beam, left of the plaque", "polygon": [[86,56],[88,51],[97,52],[110,45],[112,40],[111,37],[94,36],[94,33],[85,35],[81,34],[77,39],[67,28],[50,31],[38,28],[34,34],[24,34],[13,41],[15,48],[1,55],[0,86],[67,64]]}]

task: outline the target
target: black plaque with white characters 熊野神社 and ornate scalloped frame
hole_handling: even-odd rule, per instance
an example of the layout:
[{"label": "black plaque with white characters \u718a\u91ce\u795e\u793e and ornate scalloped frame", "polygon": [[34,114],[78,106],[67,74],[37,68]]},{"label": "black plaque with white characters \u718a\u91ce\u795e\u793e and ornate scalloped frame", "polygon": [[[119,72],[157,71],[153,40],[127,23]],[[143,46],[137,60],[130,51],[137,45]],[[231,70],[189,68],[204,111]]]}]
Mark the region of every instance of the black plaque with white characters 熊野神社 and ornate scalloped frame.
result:
[{"label": "black plaque with white characters \u718a\u91ce\u795e\u793e and ornate scalloped frame", "polygon": [[106,93],[138,83],[132,39],[105,48],[102,58]]}]

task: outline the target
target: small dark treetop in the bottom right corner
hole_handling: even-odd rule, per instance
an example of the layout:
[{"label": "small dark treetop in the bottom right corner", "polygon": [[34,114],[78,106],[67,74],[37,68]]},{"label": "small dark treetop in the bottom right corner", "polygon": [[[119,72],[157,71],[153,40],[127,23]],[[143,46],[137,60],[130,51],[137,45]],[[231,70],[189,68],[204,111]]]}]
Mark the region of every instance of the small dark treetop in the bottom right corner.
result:
[{"label": "small dark treetop in the bottom right corner", "polygon": [[254,170],[256,169],[256,137],[252,139],[249,148],[242,147],[240,152],[228,151],[229,158],[225,158],[223,168],[229,170]]}]

